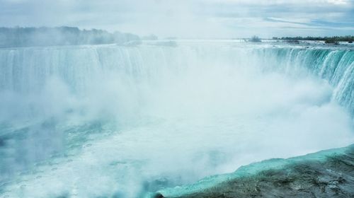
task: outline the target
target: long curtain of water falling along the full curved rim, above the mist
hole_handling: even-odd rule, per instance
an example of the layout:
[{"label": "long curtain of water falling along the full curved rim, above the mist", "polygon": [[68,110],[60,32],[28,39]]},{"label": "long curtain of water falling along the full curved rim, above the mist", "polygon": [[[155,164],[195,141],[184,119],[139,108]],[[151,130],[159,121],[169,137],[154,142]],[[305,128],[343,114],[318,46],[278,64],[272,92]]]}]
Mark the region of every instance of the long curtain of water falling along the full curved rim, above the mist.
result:
[{"label": "long curtain of water falling along the full curved rim, above the mist", "polygon": [[[195,62],[194,57],[204,59]],[[93,78],[117,71],[130,80],[144,81],[166,70],[182,71],[206,63],[263,64],[263,71],[299,75],[310,73],[329,81],[333,98],[354,113],[354,50],[331,47],[239,47],[114,45],[87,47],[25,47],[0,50],[0,90],[33,91],[52,76],[59,76],[74,91],[82,91]],[[162,64],[161,64],[162,63]],[[45,67],[43,67],[45,66]],[[222,69],[222,68],[221,68]],[[259,69],[259,68],[258,68]],[[125,77],[127,76],[127,77]]]}]

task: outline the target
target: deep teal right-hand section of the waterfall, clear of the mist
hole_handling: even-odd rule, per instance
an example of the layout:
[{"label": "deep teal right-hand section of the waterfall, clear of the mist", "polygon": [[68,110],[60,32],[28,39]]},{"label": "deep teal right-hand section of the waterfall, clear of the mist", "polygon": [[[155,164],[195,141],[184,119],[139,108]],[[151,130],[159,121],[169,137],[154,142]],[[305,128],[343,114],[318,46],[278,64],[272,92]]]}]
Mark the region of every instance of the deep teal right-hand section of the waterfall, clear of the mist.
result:
[{"label": "deep teal right-hand section of the waterfall, clear of the mist", "polygon": [[333,98],[354,113],[354,51],[336,49],[263,49],[264,61],[276,59],[275,66],[291,74],[300,68],[328,81],[333,86]]}]

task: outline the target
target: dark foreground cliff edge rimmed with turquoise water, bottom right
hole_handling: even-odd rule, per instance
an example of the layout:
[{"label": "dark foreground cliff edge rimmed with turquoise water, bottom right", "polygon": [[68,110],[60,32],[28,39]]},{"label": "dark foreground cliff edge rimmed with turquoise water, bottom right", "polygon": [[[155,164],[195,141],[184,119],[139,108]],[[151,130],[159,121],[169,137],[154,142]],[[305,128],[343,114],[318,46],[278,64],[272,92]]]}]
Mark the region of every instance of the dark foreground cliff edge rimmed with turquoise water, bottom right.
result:
[{"label": "dark foreground cliff edge rimmed with turquoise water, bottom right", "polygon": [[252,163],[152,197],[354,197],[354,144]]}]

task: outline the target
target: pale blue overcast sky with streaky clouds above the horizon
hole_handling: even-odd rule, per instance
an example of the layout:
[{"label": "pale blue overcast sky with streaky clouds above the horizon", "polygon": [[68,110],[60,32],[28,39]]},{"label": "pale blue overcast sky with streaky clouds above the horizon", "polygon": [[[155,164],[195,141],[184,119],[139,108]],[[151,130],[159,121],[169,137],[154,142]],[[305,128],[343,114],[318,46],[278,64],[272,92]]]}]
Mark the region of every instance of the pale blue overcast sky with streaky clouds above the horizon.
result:
[{"label": "pale blue overcast sky with streaky clouds above the horizon", "polygon": [[354,35],[354,0],[0,0],[0,26],[159,37]]}]

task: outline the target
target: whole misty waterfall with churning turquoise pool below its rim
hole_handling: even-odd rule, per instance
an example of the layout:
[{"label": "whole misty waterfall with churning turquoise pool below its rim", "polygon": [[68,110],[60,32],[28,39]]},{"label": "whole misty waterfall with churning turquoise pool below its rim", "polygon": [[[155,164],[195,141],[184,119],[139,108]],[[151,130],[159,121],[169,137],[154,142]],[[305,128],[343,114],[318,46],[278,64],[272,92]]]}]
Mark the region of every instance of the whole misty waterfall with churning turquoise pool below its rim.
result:
[{"label": "whole misty waterfall with churning turquoise pool below its rim", "polygon": [[0,194],[143,197],[353,143],[352,50],[151,44],[1,49]]}]

